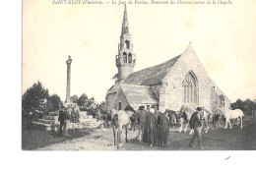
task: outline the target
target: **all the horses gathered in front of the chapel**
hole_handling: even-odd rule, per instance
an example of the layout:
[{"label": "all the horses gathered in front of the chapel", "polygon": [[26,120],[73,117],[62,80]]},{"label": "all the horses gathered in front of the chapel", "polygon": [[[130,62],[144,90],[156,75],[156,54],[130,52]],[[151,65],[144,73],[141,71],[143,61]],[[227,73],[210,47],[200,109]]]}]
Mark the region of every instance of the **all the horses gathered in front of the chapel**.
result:
[{"label": "all the horses gathered in front of the chapel", "polygon": [[[202,107],[202,109],[202,112],[200,112],[201,120],[203,123],[202,129],[203,127],[205,127],[205,133],[208,133],[211,121],[214,128],[216,128],[217,125],[221,128],[220,121],[224,120],[224,129],[228,127],[228,124],[229,128],[231,129],[232,124],[230,120],[234,120],[237,125],[240,124],[240,129],[242,129],[242,120],[244,114],[240,109],[230,110],[218,107],[212,112],[206,110],[204,107]],[[195,109],[182,105],[180,110],[177,112],[166,109],[164,113],[168,115],[170,125],[173,125],[175,127],[178,123],[180,124],[180,128],[178,129],[178,131],[181,133],[183,128],[184,132],[187,132],[189,120],[191,118],[191,115],[195,111]],[[114,145],[117,145],[117,148],[119,148],[122,130],[125,129],[125,142],[128,142],[128,128],[130,127],[131,130],[133,129],[135,131],[137,123],[136,111],[129,105],[126,106],[124,110],[112,110],[109,114],[107,114],[106,122],[110,122],[113,129]],[[190,130],[189,134],[192,133],[193,130]]]}]

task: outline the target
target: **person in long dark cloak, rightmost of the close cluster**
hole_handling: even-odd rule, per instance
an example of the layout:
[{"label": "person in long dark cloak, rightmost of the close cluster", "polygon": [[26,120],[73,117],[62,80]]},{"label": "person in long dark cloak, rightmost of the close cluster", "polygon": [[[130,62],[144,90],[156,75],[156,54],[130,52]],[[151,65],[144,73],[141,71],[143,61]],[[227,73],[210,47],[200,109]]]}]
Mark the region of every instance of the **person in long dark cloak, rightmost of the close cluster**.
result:
[{"label": "person in long dark cloak, rightmost of the close cluster", "polygon": [[165,147],[168,145],[169,137],[169,118],[167,113],[161,112],[159,119],[159,146]]}]

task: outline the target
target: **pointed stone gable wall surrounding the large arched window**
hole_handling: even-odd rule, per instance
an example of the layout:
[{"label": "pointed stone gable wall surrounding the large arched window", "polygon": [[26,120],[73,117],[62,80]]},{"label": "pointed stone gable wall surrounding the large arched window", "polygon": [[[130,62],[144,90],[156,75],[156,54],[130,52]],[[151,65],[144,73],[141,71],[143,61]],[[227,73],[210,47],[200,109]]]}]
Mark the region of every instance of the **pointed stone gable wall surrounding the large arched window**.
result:
[{"label": "pointed stone gable wall surrounding the large arched window", "polygon": [[[188,72],[193,72],[198,80],[199,103],[184,103],[182,82]],[[174,67],[162,80],[160,88],[160,108],[179,110],[181,105],[190,107],[204,106],[211,109],[211,82],[209,77],[192,49],[186,49]]]}]

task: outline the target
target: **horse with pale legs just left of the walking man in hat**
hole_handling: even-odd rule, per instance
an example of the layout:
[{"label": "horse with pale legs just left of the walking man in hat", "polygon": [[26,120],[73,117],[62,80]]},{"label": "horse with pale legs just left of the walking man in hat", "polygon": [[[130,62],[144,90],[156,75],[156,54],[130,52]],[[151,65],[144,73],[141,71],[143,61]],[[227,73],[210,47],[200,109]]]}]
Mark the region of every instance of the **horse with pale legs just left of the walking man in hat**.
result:
[{"label": "horse with pale legs just left of the walking man in hat", "polygon": [[[179,114],[178,116],[180,117],[180,128],[178,130],[179,133],[182,132],[182,128],[183,128],[183,124],[184,124],[184,121],[187,122],[186,126],[185,126],[185,129],[184,129],[184,132],[186,133],[187,132],[187,127],[189,125],[189,120],[192,116],[192,114],[195,112],[195,110],[187,107],[187,106],[184,106],[182,105],[180,110],[179,110]],[[189,134],[192,134],[192,130],[190,131]]]}]

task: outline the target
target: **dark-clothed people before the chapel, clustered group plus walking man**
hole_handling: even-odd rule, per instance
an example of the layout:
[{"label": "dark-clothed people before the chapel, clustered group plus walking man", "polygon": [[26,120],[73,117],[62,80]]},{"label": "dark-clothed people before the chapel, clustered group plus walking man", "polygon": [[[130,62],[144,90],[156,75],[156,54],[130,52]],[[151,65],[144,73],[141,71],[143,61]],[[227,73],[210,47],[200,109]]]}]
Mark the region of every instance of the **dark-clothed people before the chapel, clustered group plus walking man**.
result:
[{"label": "dark-clothed people before the chapel, clustered group plus walking man", "polygon": [[[189,146],[194,147],[194,142],[198,139],[198,147],[199,149],[203,149],[201,136],[202,108],[197,107],[196,110],[197,111],[191,116],[191,120],[189,121],[190,128],[194,130],[194,136],[189,142]],[[139,130],[138,141],[147,142],[151,147],[167,146],[170,126],[167,113],[159,112],[154,106],[147,110],[144,106],[140,106],[136,114],[138,117]]]}]

